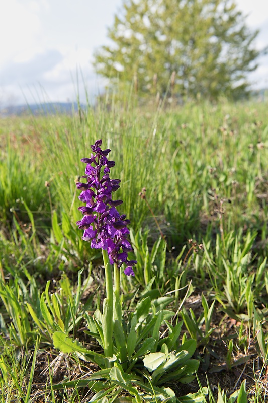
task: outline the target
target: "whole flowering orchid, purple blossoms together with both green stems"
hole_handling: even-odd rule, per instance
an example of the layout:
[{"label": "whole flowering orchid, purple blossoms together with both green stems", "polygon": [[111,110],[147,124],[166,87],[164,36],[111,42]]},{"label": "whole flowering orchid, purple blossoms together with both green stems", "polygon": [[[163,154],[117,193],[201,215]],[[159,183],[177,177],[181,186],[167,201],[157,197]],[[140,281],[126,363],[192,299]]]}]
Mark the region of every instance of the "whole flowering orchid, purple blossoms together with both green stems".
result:
[{"label": "whole flowering orchid, purple blossoms together with both green stems", "polygon": [[[110,179],[110,168],[114,161],[107,159],[110,149],[102,150],[102,140],[97,140],[91,146],[93,153],[90,158],[82,158],[86,163],[86,183],[78,182],[76,186],[82,190],[79,200],[86,206],[78,209],[84,215],[77,221],[80,229],[84,230],[82,239],[91,242],[91,247],[102,249],[106,298],[103,304],[102,326],[104,335],[105,357],[113,357],[113,327],[118,321],[122,328],[122,306],[120,299],[120,268],[125,265],[124,273],[134,276],[133,266],[136,260],[128,260],[128,252],[133,248],[127,239],[130,223],[126,215],[120,215],[116,207],[122,200],[113,200],[112,193],[119,189],[120,179]],[[114,288],[112,265],[114,265]],[[114,298],[115,297],[115,298]]]}]

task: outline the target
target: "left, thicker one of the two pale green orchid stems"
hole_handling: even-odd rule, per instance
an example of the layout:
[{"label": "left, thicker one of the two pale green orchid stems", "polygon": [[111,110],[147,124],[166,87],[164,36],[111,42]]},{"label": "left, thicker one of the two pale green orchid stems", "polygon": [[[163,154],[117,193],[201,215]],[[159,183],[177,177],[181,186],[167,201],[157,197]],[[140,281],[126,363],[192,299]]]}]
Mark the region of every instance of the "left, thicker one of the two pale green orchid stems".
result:
[{"label": "left, thicker one of the two pale green orchid stems", "polygon": [[113,357],[113,277],[107,251],[102,250],[102,254],[106,286],[103,309],[104,354],[106,357]]}]

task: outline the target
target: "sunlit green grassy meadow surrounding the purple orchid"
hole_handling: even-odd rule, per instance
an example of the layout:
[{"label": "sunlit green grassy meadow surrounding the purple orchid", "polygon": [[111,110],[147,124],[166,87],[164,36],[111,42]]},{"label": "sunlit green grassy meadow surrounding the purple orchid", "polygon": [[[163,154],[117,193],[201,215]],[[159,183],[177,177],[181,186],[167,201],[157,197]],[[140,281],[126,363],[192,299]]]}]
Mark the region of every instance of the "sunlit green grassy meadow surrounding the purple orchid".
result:
[{"label": "sunlit green grassy meadow surrounding the purple orchid", "polygon": [[[137,260],[112,369],[102,254],[76,225],[98,139]],[[0,144],[1,403],[268,401],[267,103],[112,99],[2,118]]]}]

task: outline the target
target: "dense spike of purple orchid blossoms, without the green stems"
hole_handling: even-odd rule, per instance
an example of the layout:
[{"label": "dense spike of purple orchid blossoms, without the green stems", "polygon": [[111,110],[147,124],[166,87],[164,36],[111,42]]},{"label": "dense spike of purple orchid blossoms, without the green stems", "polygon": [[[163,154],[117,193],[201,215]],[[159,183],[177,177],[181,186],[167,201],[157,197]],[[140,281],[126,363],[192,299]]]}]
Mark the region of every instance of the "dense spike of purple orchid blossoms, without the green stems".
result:
[{"label": "dense spike of purple orchid blossoms, without the green stems", "polygon": [[[91,241],[91,247],[107,250],[109,261],[118,268],[126,264],[124,273],[134,276],[133,266],[136,260],[128,260],[128,252],[133,248],[127,240],[129,230],[126,215],[120,215],[116,209],[123,203],[122,200],[112,200],[112,193],[119,189],[119,179],[110,179],[110,168],[114,161],[108,161],[107,156],[111,150],[102,150],[102,140],[97,140],[91,149],[94,154],[90,158],[82,158],[86,165],[85,175],[87,183],[78,182],[76,186],[82,190],[79,200],[86,206],[79,207],[83,218],[77,221],[79,228],[84,230],[82,239]],[[101,172],[104,167],[103,174]]]}]

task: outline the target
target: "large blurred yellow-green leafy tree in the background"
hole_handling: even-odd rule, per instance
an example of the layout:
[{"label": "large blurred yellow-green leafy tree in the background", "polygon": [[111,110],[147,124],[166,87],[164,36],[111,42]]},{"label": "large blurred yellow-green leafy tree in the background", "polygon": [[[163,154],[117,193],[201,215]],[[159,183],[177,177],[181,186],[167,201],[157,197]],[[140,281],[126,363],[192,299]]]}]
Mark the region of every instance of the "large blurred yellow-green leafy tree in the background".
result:
[{"label": "large blurred yellow-green leafy tree in the background", "polygon": [[257,34],[229,0],[126,0],[94,66],[144,93],[162,96],[169,83],[171,95],[239,97],[257,67]]}]

